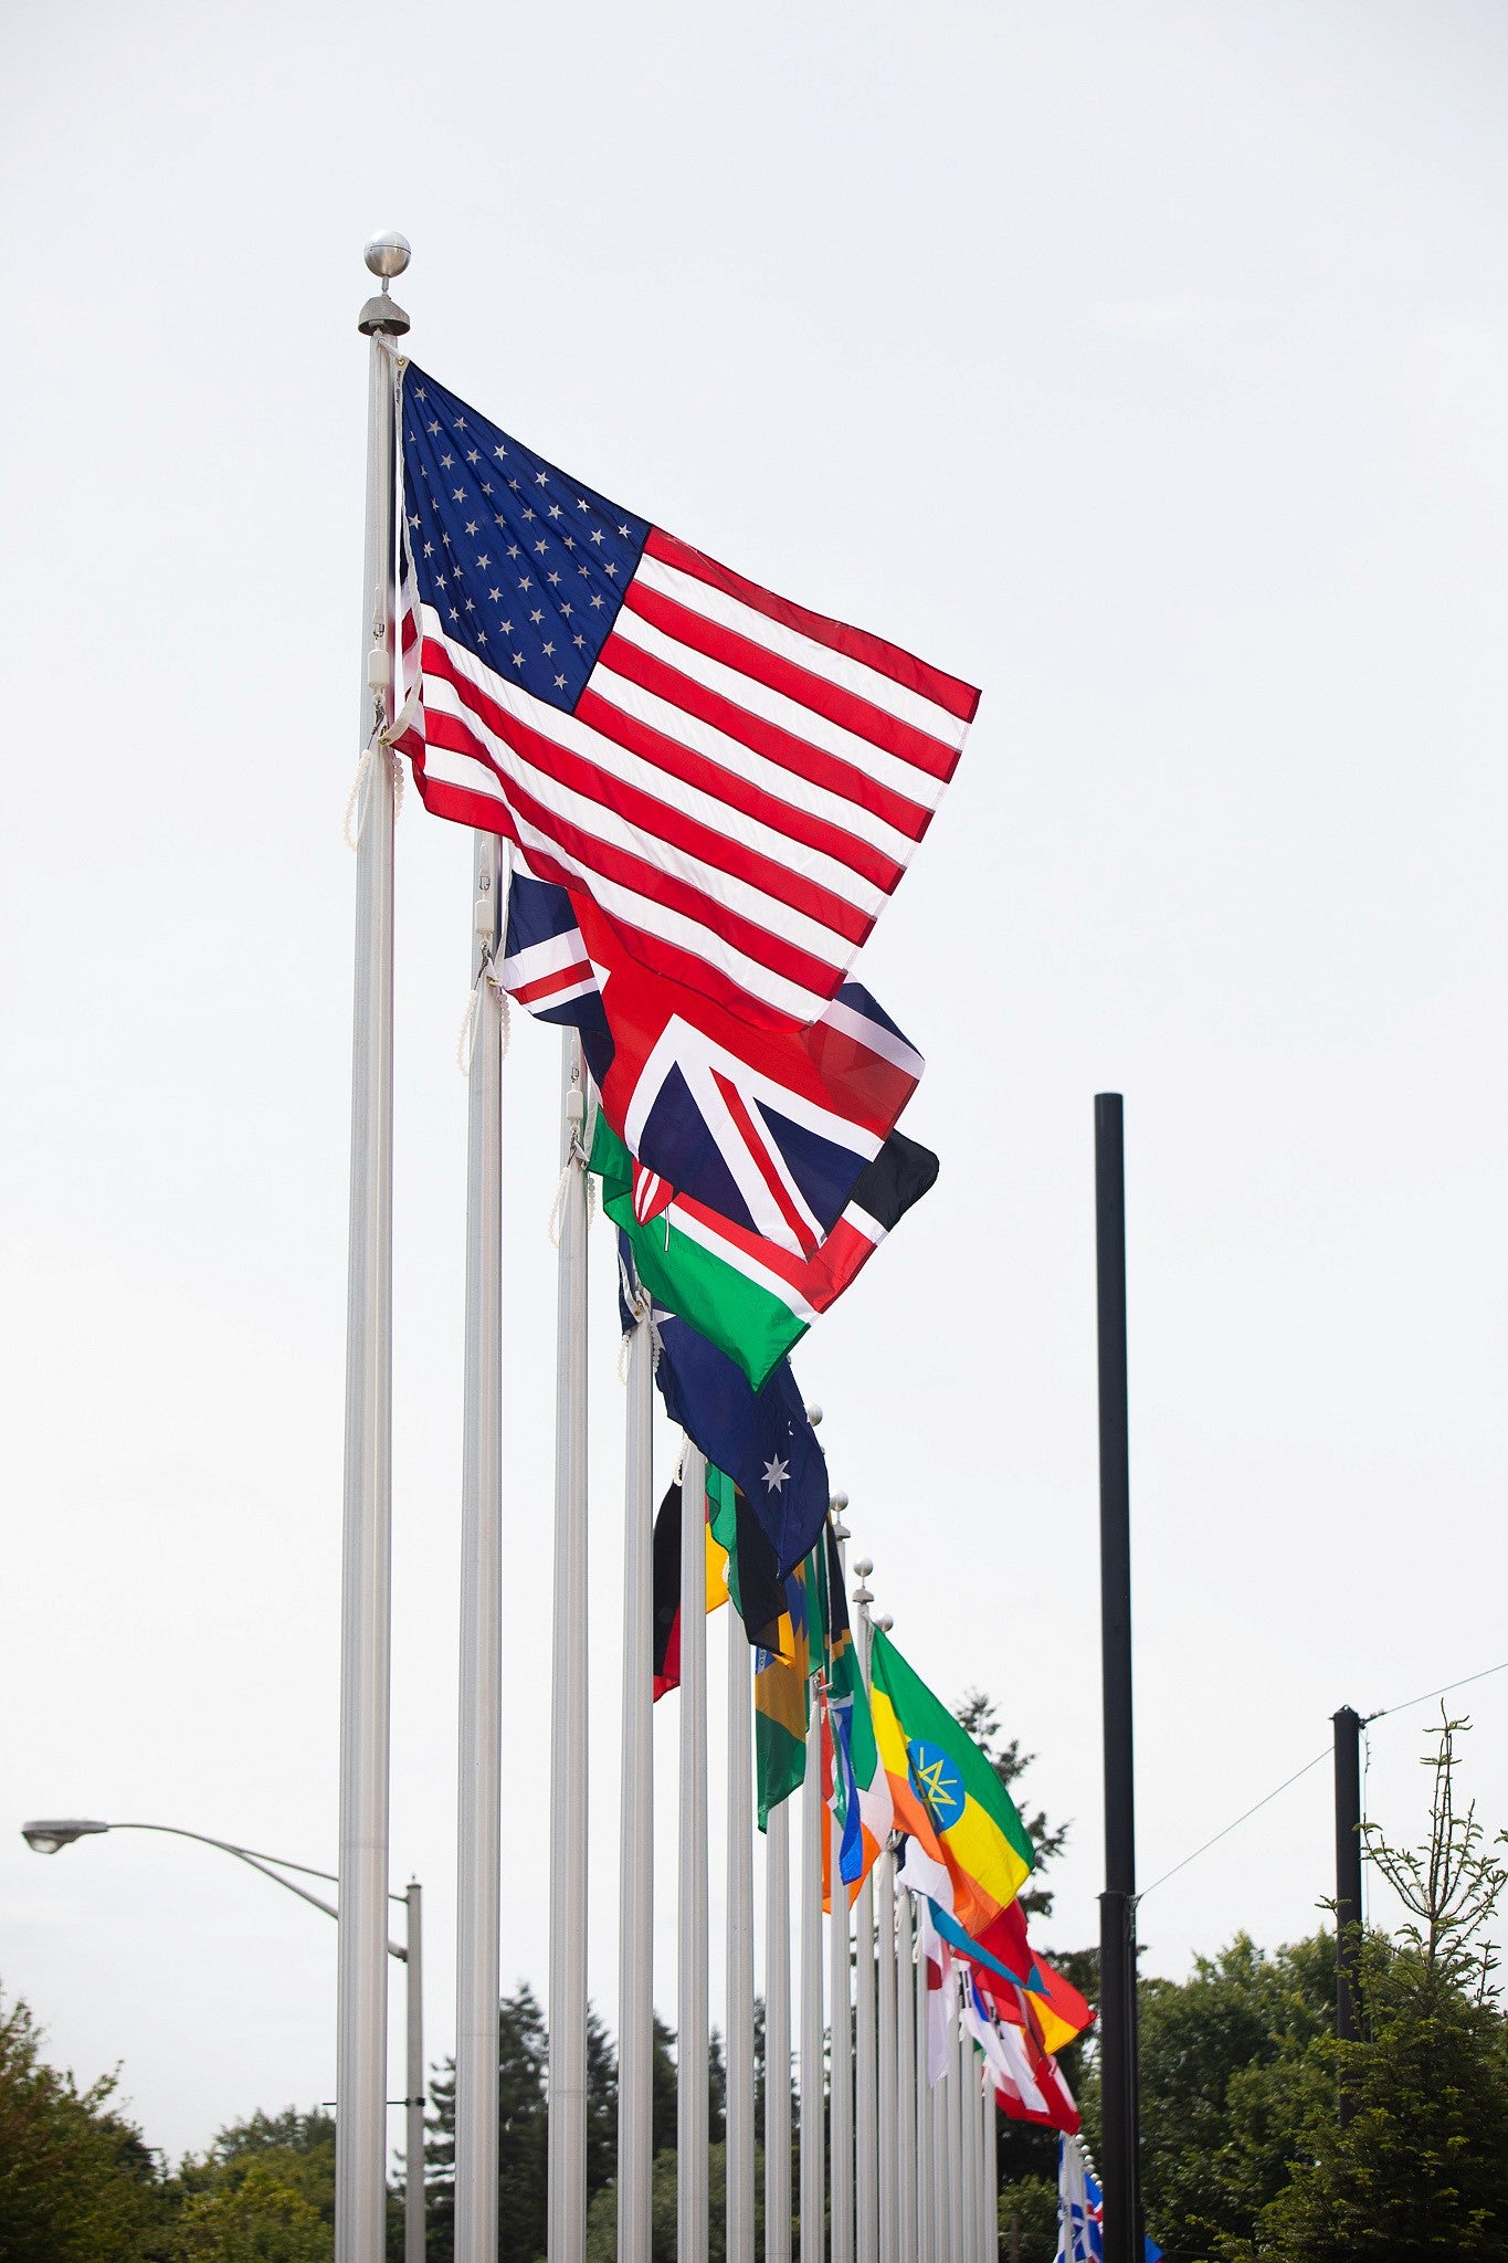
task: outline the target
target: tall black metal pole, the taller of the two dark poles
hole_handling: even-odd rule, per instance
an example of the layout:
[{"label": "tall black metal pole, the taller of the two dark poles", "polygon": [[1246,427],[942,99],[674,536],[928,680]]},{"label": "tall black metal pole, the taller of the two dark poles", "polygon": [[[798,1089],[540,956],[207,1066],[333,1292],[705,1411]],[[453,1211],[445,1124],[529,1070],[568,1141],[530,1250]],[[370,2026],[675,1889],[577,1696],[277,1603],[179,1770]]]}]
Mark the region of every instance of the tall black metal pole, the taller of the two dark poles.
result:
[{"label": "tall black metal pole, the taller of the two dark poles", "polygon": [[1106,1892],[1099,1896],[1103,2252],[1106,2263],[1142,2263],[1126,1145],[1119,1093],[1094,1095],[1094,1249],[1099,1281],[1099,1627],[1106,1715]]}]

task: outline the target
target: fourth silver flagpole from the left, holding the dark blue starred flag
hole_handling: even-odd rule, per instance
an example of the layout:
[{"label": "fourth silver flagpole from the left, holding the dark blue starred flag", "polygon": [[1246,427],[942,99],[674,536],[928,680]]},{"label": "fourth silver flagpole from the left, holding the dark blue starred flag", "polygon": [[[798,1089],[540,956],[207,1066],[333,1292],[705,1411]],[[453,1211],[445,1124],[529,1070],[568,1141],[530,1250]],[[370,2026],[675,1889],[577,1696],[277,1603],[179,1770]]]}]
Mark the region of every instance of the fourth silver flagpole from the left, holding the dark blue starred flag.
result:
[{"label": "fourth silver flagpole from the left, holding the dark blue starred flag", "polygon": [[653,1328],[629,1337],[617,1815],[617,2256],[649,2263],[653,2175]]}]

